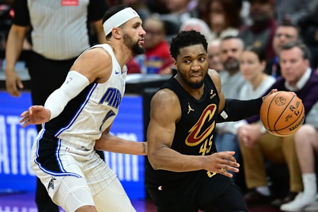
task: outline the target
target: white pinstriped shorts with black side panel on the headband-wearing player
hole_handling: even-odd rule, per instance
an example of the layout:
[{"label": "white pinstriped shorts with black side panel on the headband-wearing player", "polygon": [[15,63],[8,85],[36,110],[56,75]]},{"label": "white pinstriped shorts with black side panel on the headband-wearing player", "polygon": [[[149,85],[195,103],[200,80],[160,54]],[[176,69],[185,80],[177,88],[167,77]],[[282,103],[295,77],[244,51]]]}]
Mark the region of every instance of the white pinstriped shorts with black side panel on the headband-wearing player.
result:
[{"label": "white pinstriped shorts with black side panel on the headband-wearing player", "polygon": [[39,133],[31,165],[52,201],[67,212],[84,205],[98,211],[135,211],[115,173],[94,150],[78,155],[67,142]]}]

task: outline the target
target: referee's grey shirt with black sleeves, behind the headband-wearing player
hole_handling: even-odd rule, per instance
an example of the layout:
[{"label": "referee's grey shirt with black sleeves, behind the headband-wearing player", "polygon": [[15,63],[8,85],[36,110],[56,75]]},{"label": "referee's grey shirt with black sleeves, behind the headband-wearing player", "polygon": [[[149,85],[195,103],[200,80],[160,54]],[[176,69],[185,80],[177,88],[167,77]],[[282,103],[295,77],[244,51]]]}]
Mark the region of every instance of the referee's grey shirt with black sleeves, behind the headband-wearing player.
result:
[{"label": "referee's grey shirt with black sleeves, behind the headband-wearing player", "polygon": [[32,26],[33,51],[68,60],[89,48],[87,23],[103,18],[105,0],[15,0],[13,24]]}]

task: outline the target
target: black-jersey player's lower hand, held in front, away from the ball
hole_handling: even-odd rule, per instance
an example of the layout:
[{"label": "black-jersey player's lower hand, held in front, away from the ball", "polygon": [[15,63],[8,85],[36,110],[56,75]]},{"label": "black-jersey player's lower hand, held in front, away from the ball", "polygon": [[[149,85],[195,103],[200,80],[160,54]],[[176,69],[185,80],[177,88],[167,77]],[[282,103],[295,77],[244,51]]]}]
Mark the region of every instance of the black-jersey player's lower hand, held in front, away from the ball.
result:
[{"label": "black-jersey player's lower hand, held in front, away from the ball", "polygon": [[240,164],[236,163],[236,159],[233,157],[234,154],[235,151],[220,151],[206,156],[205,159],[208,161],[205,162],[207,166],[205,169],[229,178],[233,177],[233,175],[226,170],[238,172]]}]

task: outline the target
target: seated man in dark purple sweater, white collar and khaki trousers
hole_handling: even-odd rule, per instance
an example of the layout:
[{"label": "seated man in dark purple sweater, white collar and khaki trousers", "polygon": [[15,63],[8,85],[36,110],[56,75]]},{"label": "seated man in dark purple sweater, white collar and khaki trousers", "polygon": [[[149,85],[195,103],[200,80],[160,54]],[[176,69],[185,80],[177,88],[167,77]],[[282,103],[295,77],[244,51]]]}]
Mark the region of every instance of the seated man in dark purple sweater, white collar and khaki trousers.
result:
[{"label": "seated man in dark purple sweater, white collar and khaki trousers", "polygon": [[[292,91],[305,107],[305,115],[318,100],[318,74],[309,66],[307,47],[301,42],[289,42],[281,47],[279,54],[282,76],[269,90]],[[267,93],[267,92],[265,92]],[[303,189],[301,170],[296,156],[294,134],[276,137],[257,124],[260,116],[247,119],[246,124],[238,128],[238,138],[243,157],[245,181],[251,189],[245,196],[247,205],[268,204],[275,206],[293,200]],[[263,130],[264,129],[264,130]],[[274,196],[268,187],[265,160],[272,164],[286,164],[289,170],[289,194],[283,198]]]}]

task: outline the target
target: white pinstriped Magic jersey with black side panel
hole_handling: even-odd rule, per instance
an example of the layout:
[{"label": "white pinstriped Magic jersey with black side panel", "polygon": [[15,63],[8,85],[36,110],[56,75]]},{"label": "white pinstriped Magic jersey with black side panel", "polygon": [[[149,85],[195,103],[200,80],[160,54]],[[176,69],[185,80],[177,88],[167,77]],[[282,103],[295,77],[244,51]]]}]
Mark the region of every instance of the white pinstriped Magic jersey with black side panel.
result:
[{"label": "white pinstriped Magic jersey with black side panel", "polygon": [[[127,67],[121,69],[108,44],[91,48],[96,47],[104,48],[111,55],[110,78],[105,83],[88,85],[66,105],[61,114],[43,127],[45,131],[67,141],[70,147],[79,151],[93,150],[95,140],[101,138],[102,132],[115,119],[125,92]],[[76,153],[81,155],[83,152]]]}]

